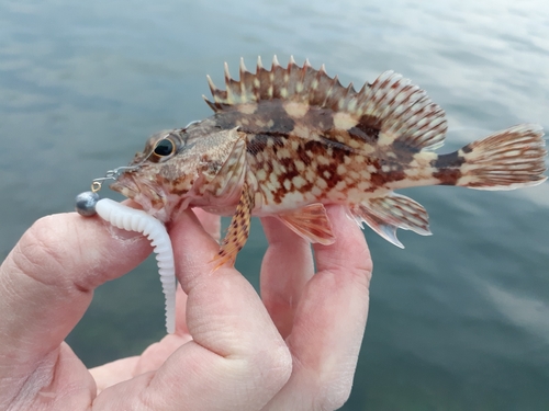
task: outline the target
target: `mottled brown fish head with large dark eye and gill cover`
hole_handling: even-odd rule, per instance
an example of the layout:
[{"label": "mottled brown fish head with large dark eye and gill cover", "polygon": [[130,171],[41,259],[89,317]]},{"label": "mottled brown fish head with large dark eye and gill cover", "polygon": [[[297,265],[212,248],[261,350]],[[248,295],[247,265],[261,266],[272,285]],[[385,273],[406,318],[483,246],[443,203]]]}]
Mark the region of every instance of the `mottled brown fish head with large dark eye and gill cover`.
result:
[{"label": "mottled brown fish head with large dark eye and gill cover", "polygon": [[211,198],[212,182],[220,180],[240,138],[236,129],[220,129],[208,121],[156,133],[111,189],[166,222],[175,210]]}]

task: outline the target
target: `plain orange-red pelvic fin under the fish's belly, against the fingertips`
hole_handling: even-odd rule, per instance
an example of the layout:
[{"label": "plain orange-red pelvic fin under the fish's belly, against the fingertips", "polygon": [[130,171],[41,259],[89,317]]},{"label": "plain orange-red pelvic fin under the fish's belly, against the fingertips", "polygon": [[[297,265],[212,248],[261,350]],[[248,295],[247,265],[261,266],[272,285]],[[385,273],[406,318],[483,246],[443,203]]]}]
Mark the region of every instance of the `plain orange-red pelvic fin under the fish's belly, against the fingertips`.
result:
[{"label": "plain orange-red pelvic fin under the fish's belly, against the fingertips", "polygon": [[293,232],[311,242],[323,246],[333,244],[336,240],[326,208],[320,203],[307,205],[294,212],[279,214],[278,218]]}]

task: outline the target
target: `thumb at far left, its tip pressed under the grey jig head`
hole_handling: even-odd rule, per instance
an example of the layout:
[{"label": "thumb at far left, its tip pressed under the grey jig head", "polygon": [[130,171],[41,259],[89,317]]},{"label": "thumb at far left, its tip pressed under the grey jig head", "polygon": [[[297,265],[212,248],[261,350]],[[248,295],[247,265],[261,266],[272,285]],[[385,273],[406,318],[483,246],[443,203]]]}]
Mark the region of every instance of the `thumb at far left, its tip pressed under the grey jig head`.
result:
[{"label": "thumb at far left, its tip pressed under the grey jig head", "polygon": [[131,271],[150,251],[144,237],[99,217],[70,213],[36,221],[0,266],[2,372],[21,373],[57,349],[83,316],[93,289]]}]

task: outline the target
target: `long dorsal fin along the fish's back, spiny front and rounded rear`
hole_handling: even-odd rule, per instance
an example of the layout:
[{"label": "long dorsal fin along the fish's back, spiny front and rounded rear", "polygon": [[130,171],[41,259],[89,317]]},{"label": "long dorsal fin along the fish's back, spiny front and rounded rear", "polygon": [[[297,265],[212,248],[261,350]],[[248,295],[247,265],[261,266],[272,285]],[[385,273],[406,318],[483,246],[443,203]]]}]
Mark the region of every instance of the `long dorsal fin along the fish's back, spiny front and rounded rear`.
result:
[{"label": "long dorsal fin along the fish's back, spiny front and rounded rear", "polygon": [[397,142],[422,150],[436,149],[444,144],[447,129],[444,111],[424,90],[393,71],[383,72],[359,92],[355,91],[352,83],[343,87],[337,76],[330,78],[324,65],[315,70],[307,60],[300,67],[293,58],[283,68],[274,56],[270,70],[265,69],[258,58],[256,73],[249,72],[240,60],[239,75],[239,80],[234,80],[225,64],[226,90],[217,89],[208,78],[213,102],[204,100],[213,111],[288,100],[343,114],[344,118],[336,127],[379,130],[380,145]]}]

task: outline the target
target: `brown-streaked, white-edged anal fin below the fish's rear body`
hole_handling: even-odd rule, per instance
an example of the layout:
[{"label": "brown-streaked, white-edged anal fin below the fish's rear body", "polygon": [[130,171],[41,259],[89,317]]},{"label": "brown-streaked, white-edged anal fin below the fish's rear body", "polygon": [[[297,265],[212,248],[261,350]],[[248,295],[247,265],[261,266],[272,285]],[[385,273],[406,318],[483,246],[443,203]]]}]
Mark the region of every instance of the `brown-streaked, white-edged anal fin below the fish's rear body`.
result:
[{"label": "brown-streaked, white-edged anal fin below the fish's rear body", "polygon": [[351,216],[362,226],[370,228],[396,247],[404,248],[396,238],[396,229],[412,230],[422,236],[430,236],[429,216],[417,202],[401,194],[389,193],[381,197],[368,198],[349,208]]}]

